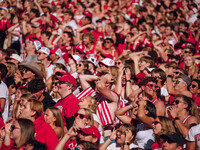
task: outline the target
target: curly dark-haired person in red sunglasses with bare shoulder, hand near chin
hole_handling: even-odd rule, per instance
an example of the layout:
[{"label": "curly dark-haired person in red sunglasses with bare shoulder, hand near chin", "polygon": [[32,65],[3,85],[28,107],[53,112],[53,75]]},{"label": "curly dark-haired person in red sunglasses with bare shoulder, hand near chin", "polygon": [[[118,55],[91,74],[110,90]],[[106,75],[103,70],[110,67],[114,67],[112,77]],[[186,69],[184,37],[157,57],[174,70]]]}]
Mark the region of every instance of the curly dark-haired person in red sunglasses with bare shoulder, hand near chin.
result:
[{"label": "curly dark-haired person in red sunglasses with bare shoulder, hand near chin", "polygon": [[156,107],[157,116],[164,116],[165,103],[157,97],[156,89],[158,89],[157,79],[154,77],[146,77],[141,82],[142,92],[138,98],[146,97]]}]

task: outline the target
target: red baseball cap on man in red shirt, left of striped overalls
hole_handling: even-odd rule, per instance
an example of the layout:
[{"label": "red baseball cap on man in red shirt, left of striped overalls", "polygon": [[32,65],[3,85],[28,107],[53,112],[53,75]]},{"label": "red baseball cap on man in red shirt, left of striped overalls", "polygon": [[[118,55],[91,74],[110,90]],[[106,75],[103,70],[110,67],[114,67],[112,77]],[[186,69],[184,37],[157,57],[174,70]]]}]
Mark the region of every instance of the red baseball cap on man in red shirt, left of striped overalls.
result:
[{"label": "red baseball cap on man in red shirt, left of striped overalls", "polygon": [[57,79],[63,82],[69,82],[71,83],[74,87],[76,87],[76,79],[71,76],[68,72],[60,72],[61,76],[57,76]]}]

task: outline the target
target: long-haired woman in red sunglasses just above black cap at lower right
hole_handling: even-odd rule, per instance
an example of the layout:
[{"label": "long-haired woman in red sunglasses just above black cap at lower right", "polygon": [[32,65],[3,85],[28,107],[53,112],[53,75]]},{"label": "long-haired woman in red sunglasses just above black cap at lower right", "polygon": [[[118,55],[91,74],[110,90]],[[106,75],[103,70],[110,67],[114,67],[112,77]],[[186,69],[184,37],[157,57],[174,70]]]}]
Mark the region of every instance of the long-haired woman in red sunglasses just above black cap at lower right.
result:
[{"label": "long-haired woman in red sunglasses just above black cap at lower right", "polygon": [[151,146],[152,150],[162,148],[162,141],[160,139],[160,135],[168,134],[169,132],[176,132],[172,120],[163,116],[158,116],[152,122],[152,126],[155,135],[155,142]]}]

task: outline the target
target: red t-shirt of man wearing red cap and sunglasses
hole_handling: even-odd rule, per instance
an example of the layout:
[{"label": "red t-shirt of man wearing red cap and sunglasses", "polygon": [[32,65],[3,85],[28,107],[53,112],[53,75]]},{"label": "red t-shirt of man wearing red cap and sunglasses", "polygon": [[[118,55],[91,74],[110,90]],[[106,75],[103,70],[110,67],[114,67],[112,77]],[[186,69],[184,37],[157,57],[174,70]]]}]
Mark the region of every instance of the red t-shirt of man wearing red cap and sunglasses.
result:
[{"label": "red t-shirt of man wearing red cap and sunglasses", "polygon": [[78,111],[78,103],[78,98],[76,98],[74,94],[70,94],[55,104],[55,107],[59,108],[62,112],[64,126],[67,124],[65,118],[74,116],[74,114]]}]

